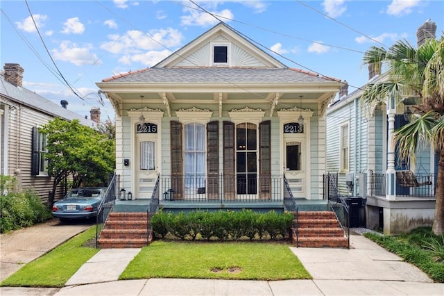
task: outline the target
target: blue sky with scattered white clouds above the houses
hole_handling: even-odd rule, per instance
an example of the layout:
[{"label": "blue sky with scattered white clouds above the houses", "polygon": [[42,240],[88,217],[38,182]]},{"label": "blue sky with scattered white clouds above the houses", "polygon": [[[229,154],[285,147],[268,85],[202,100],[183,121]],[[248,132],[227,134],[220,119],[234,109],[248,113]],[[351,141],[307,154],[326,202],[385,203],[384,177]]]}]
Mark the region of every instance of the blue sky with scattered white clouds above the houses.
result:
[{"label": "blue sky with scattered white clouds above the houses", "polygon": [[401,39],[416,45],[427,19],[436,23],[437,38],[444,29],[444,1],[435,0],[2,0],[1,69],[19,63],[25,88],[57,104],[65,99],[80,115],[99,106],[102,120],[114,119],[95,83],[151,67],[219,22],[195,3],[285,65],[348,81],[349,92],[368,80],[361,60],[370,46]]}]

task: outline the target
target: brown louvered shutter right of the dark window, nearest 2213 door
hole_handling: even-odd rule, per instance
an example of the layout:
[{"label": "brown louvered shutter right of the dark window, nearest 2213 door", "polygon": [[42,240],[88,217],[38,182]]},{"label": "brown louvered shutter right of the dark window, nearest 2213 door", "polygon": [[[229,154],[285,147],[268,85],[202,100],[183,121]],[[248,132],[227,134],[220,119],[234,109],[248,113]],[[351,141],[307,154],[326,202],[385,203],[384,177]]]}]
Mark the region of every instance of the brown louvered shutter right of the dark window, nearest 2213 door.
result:
[{"label": "brown louvered shutter right of the dark window, nearest 2213 door", "polygon": [[271,122],[259,124],[259,198],[271,198]]}]

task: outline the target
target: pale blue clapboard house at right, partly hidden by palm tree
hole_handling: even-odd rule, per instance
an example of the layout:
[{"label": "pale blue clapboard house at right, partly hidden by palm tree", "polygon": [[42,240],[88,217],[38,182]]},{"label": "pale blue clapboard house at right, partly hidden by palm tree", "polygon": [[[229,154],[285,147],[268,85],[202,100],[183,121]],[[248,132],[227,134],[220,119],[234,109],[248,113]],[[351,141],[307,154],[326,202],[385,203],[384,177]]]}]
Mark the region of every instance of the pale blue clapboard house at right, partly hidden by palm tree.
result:
[{"label": "pale blue clapboard house at right, partly hidden by palm tree", "polygon": [[[418,46],[434,38],[436,24],[418,28]],[[369,67],[368,83],[385,75]],[[348,94],[345,85],[339,99],[327,109],[327,171],[338,174],[342,195],[366,197],[366,224],[395,234],[432,225],[434,219],[438,155],[432,147],[417,151],[416,163],[398,159],[391,140],[394,129],[407,123],[416,104],[406,98],[397,104],[387,99],[367,109],[362,91]]]}]

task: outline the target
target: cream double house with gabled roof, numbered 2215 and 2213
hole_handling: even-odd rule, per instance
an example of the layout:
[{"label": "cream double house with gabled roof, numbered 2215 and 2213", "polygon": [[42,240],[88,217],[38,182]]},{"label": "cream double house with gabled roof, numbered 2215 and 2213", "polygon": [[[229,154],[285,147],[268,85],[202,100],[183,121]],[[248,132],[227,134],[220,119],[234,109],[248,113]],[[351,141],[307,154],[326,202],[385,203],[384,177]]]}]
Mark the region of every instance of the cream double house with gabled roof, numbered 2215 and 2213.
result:
[{"label": "cream double house with gabled roof, numbered 2215 and 2213", "polygon": [[[157,65],[96,83],[116,113],[133,199],[323,199],[325,110],[337,80],[292,69],[220,23]],[[172,192],[172,196],[169,196]]]}]

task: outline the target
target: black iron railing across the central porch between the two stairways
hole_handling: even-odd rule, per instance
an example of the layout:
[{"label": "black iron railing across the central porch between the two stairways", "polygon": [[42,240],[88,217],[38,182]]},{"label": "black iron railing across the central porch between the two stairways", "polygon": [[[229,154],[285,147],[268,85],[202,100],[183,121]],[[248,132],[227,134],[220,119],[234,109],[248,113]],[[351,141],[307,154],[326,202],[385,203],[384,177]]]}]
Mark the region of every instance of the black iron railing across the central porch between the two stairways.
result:
[{"label": "black iron railing across the central porch between the two stairways", "polygon": [[283,176],[160,176],[162,202],[282,202]]}]

